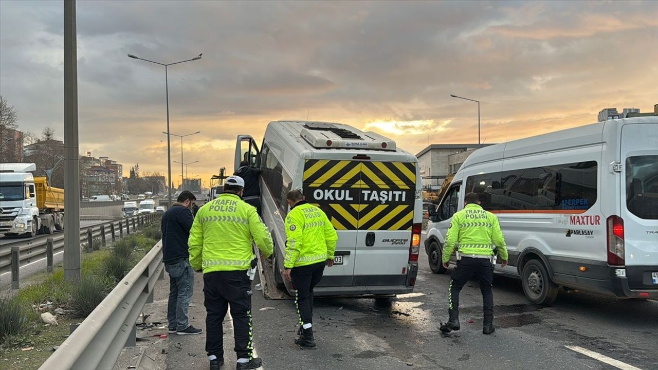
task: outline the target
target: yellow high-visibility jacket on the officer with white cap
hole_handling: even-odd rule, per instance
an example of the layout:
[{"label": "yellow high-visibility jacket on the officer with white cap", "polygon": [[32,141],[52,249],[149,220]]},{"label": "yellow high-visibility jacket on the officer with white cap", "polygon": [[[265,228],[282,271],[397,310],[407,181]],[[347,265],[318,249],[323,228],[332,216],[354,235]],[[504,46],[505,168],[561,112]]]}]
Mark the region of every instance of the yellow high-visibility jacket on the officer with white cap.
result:
[{"label": "yellow high-visibility jacket on the officer with white cap", "polygon": [[265,257],[274,244],[256,209],[236,194],[224,193],[197,212],[188,246],[190,265],[195,271],[236,271],[250,268],[255,258],[251,241]]}]

